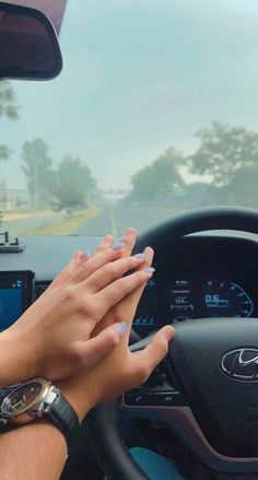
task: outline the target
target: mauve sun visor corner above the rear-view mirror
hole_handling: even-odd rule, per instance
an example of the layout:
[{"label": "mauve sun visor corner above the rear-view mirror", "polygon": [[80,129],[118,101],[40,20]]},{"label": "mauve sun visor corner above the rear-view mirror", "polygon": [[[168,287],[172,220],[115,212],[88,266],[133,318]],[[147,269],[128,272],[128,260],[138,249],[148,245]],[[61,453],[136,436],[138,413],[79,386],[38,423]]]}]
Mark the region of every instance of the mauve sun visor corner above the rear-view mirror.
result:
[{"label": "mauve sun visor corner above the rear-view mirror", "polygon": [[57,34],[59,35],[67,0],[8,0],[8,3],[40,10],[51,21]]}]

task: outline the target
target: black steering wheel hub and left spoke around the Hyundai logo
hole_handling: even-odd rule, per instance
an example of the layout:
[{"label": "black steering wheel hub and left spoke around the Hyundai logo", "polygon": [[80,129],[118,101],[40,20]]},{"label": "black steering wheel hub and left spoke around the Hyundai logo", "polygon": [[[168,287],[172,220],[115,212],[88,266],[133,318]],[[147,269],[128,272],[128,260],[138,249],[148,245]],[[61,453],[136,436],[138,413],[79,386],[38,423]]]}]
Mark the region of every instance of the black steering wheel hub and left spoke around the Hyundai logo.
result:
[{"label": "black steering wheel hub and left spoke around the Hyundai logo", "polygon": [[[246,435],[249,432],[253,438],[257,435],[255,417],[253,424],[250,420],[256,405],[258,409],[258,400],[255,401],[258,351],[232,350],[232,347],[251,344],[258,338],[258,320],[250,318],[243,324],[239,318],[208,318],[185,321],[175,329],[169,355],[144,385],[122,395],[121,410],[133,418],[171,428],[203,463],[218,471],[257,471],[256,455],[224,455],[220,449],[226,449],[233,436],[237,448],[242,441],[237,437],[239,431]],[[221,336],[216,335],[218,329]],[[146,347],[151,338],[139,341],[131,350],[137,352]],[[211,428],[220,434],[210,436]],[[221,442],[219,448],[212,446],[210,438]]]}]

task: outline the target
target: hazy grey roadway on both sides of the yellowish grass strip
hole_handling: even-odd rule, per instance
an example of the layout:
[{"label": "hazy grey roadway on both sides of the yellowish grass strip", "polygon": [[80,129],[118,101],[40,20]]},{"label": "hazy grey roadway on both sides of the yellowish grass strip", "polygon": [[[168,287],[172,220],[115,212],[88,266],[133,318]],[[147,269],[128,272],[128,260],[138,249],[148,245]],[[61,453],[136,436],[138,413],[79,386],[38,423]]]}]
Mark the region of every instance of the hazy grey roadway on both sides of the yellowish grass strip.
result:
[{"label": "hazy grey roadway on both sides of the yellowish grass strip", "polygon": [[[110,233],[114,236],[119,236],[125,232],[127,226],[134,226],[138,232],[141,232],[173,213],[175,213],[175,210],[165,208],[109,207],[103,209],[96,216],[82,223],[72,234],[102,236],[106,233]],[[33,234],[33,230],[40,229],[62,219],[62,213],[39,213],[34,216],[4,221],[2,231],[9,230],[12,236],[31,235]]]}]

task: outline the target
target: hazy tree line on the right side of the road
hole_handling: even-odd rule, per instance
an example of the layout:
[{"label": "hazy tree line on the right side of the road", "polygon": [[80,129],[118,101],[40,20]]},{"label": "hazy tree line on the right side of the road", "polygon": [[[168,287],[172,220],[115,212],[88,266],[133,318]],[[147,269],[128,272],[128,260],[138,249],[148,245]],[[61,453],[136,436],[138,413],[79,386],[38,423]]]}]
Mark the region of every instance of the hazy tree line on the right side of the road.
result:
[{"label": "hazy tree line on the right side of the road", "polygon": [[[171,147],[131,177],[126,204],[258,207],[258,132],[213,121],[192,154]],[[183,174],[184,169],[184,174]],[[187,182],[189,174],[198,178]],[[203,179],[204,178],[204,179]]]}]

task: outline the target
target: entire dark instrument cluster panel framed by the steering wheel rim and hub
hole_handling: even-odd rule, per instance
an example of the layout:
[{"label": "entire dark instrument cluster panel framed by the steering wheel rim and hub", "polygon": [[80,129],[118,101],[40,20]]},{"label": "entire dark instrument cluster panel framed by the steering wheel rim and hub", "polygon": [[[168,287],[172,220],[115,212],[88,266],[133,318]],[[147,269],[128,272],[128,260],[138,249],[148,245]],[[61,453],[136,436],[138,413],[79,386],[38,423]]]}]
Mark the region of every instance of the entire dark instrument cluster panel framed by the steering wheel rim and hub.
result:
[{"label": "entire dark instrument cluster panel framed by the steering wheel rim and hub", "polygon": [[146,336],[167,324],[258,317],[258,248],[242,238],[181,238],[155,257],[133,328]]}]

